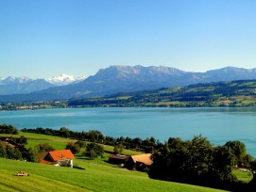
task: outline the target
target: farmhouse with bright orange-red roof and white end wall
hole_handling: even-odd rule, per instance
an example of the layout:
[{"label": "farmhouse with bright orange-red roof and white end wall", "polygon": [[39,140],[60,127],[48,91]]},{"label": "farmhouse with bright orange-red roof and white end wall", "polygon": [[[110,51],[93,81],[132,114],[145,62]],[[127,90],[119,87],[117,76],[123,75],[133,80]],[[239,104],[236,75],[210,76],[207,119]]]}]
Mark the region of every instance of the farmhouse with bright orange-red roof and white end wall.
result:
[{"label": "farmhouse with bright orange-red roof and white end wall", "polygon": [[73,168],[74,154],[70,150],[40,152],[38,154],[39,162],[42,164],[54,166],[68,166]]}]

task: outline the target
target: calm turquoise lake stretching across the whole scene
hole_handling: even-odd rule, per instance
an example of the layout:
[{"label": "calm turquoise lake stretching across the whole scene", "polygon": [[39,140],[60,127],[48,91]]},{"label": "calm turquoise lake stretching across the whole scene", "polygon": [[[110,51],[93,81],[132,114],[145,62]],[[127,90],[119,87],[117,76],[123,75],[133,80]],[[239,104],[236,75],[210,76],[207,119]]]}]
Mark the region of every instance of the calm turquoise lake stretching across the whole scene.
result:
[{"label": "calm turquoise lake stretching across the whole scene", "polygon": [[22,128],[64,126],[74,131],[98,130],[106,136],[206,136],[214,145],[240,140],[256,157],[256,108],[67,108],[0,111],[0,123]]}]

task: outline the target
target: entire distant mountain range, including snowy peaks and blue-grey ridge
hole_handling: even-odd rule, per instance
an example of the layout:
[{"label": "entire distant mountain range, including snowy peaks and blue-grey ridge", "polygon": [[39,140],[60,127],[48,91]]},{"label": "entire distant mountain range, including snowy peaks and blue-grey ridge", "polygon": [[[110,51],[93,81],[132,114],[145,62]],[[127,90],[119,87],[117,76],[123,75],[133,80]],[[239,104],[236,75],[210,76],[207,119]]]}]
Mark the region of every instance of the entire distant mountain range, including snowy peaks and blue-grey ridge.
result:
[{"label": "entire distant mountain range, including snowy peaks and blue-grey ridge", "polygon": [[256,79],[256,69],[226,67],[208,72],[184,72],[164,66],[115,65],[76,80],[74,76],[64,74],[47,80],[26,77],[10,79],[16,83],[8,84],[7,79],[0,80],[0,102],[94,97],[198,83]]}]

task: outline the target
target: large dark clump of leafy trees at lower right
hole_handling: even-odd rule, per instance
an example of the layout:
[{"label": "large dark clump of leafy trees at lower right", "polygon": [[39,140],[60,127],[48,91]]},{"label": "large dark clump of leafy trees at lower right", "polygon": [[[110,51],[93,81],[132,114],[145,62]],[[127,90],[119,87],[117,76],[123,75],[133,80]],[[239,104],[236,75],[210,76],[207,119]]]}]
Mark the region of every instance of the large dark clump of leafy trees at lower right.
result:
[{"label": "large dark clump of leafy trees at lower right", "polygon": [[[240,141],[213,146],[203,136],[183,141],[170,137],[164,148],[152,155],[148,175],[152,179],[204,185],[231,191],[253,191],[255,180],[245,184],[232,170],[238,167],[255,170],[256,162]],[[255,176],[254,176],[255,179]]]}]

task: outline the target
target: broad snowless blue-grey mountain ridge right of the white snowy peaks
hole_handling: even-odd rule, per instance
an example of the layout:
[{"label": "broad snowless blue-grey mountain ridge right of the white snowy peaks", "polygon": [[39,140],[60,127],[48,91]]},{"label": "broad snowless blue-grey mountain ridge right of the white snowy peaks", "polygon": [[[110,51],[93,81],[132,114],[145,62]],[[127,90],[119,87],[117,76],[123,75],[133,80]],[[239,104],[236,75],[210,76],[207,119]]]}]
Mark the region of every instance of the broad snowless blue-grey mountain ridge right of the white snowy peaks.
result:
[{"label": "broad snowless blue-grey mountain ridge right of the white snowy peaks", "polygon": [[[76,84],[61,87],[50,87],[34,91],[32,94],[1,96],[20,100],[69,99],[78,97],[104,96],[118,92],[132,92],[156,88],[188,86],[197,83],[256,79],[256,69],[226,67],[208,72],[184,72],[164,66],[110,66]],[[42,97],[41,97],[42,95]]]}]

